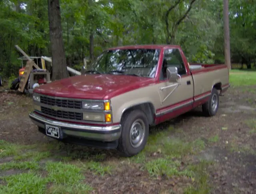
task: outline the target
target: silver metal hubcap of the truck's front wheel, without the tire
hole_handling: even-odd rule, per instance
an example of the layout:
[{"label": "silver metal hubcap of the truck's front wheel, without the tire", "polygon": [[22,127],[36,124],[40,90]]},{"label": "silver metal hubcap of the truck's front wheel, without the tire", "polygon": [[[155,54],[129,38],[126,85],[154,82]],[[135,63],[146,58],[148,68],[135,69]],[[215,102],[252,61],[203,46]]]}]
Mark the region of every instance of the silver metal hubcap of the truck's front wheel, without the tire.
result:
[{"label": "silver metal hubcap of the truck's front wheel, without the tire", "polygon": [[130,130],[130,143],[132,147],[138,148],[145,136],[145,124],[141,119],[137,119],[133,122]]}]

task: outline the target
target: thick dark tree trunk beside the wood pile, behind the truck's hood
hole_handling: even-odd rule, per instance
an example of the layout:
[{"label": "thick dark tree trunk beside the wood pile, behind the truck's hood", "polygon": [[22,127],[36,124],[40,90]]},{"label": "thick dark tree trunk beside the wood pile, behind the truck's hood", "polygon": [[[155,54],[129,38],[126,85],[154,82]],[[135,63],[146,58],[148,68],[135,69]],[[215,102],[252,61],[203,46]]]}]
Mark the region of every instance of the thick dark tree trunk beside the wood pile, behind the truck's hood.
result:
[{"label": "thick dark tree trunk beside the wood pile, behind the truck's hood", "polygon": [[59,0],[48,0],[48,17],[52,51],[52,80],[60,80],[68,77],[68,71],[62,38]]}]

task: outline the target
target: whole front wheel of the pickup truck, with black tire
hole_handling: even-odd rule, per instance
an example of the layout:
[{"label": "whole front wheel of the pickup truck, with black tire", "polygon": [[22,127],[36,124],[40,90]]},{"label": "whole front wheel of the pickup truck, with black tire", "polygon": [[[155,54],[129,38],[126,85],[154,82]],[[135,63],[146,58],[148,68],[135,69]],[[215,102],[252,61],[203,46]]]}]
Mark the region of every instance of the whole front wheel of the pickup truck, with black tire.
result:
[{"label": "whole front wheel of the pickup truck, with black tire", "polygon": [[[131,157],[141,152],[148,140],[149,125],[146,114],[142,110],[126,112],[122,117],[121,126],[122,134],[118,140],[118,150],[125,157]],[[137,138],[138,144],[134,143]]]}]

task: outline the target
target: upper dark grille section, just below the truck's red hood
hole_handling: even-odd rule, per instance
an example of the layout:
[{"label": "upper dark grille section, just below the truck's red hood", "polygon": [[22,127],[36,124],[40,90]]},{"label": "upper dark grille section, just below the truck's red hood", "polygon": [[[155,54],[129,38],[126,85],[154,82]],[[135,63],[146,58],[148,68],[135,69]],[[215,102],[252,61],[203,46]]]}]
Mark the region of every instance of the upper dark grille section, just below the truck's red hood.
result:
[{"label": "upper dark grille section, just below the truck's red hood", "polygon": [[82,108],[82,102],[79,100],[66,100],[66,99],[56,99],[46,96],[40,96],[40,102],[50,106],[59,106],[65,108]]}]

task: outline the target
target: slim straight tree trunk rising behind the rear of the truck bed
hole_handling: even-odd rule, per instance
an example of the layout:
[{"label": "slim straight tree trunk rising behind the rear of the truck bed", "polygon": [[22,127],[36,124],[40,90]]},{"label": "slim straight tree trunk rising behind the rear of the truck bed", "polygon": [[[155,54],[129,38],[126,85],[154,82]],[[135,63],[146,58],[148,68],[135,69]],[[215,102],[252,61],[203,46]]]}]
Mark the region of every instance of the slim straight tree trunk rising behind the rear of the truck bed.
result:
[{"label": "slim straight tree trunk rising behind the rear of the truck bed", "polygon": [[231,69],[228,0],[223,0],[225,64]]}]

